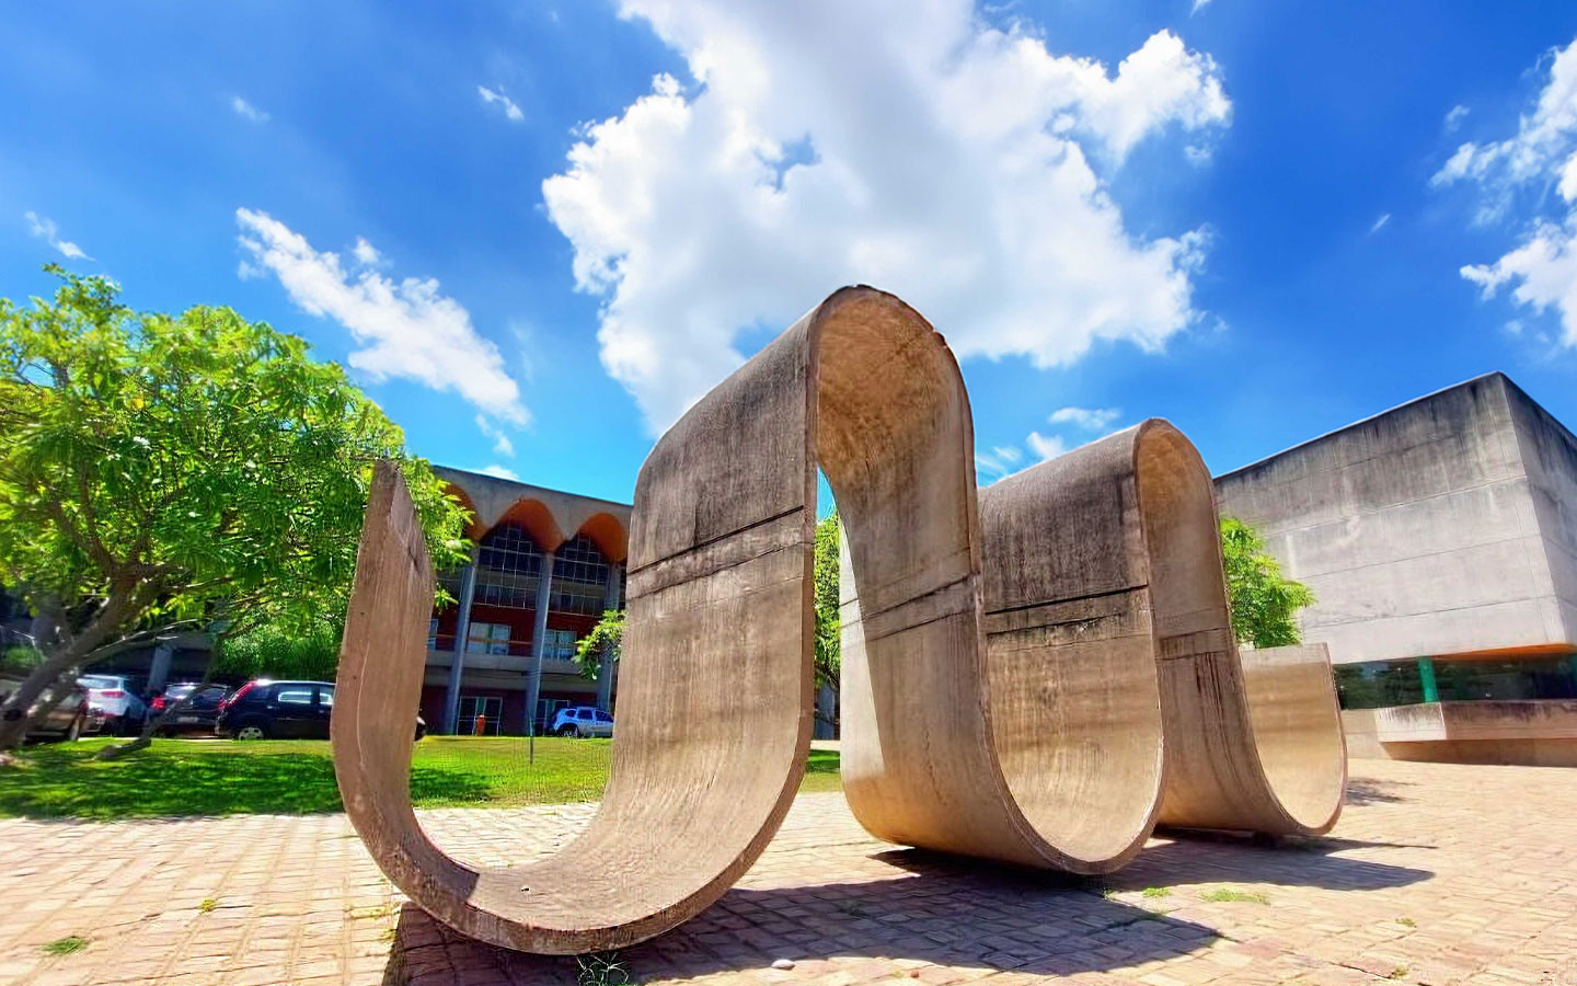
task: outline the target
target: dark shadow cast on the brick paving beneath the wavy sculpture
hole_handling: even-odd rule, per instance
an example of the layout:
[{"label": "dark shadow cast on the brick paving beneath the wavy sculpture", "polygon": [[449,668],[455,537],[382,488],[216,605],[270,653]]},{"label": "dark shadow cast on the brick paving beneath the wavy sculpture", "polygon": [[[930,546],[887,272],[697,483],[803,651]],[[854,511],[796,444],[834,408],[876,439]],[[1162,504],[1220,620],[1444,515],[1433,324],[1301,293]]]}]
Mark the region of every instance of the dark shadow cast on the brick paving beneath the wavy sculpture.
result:
[{"label": "dark shadow cast on the brick paving beneath the wavy sculpture", "polygon": [[[729,891],[678,929],[620,953],[631,981],[766,969],[795,962],[793,980],[833,972],[828,959],[864,958],[869,978],[907,978],[926,965],[1066,975],[1134,965],[1202,948],[1202,924],[1099,896],[1047,872],[900,850],[900,872],[858,883]],[[530,956],[465,939],[407,904],[385,983],[576,983],[574,958]],[[604,978],[620,986],[618,978]]]}]

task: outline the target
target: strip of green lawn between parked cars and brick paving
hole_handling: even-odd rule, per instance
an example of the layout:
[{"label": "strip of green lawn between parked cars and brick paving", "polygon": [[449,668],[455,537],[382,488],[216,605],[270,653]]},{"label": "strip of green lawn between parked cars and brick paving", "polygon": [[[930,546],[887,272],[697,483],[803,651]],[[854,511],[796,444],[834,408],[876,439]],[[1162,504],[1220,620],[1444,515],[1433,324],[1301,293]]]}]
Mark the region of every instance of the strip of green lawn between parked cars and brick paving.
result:
[{"label": "strip of green lawn between parked cars and brick paving", "polygon": [[[155,740],[101,762],[115,740],[25,748],[0,768],[0,816],[136,819],[339,811],[334,762],[322,740]],[[610,740],[427,737],[415,746],[418,808],[509,808],[595,801],[607,781]],[[837,753],[812,749],[800,790],[837,790]]]}]

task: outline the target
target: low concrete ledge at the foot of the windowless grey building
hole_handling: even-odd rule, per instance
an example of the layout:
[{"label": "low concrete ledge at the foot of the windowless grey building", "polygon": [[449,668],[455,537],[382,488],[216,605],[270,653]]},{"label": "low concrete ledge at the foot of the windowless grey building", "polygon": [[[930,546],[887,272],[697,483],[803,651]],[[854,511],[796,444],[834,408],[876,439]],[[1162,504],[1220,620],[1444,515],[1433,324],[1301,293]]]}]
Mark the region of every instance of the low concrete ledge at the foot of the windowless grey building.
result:
[{"label": "low concrete ledge at the foot of the windowless grey building", "polygon": [[1577,767],[1577,700],[1350,708],[1342,727],[1355,757]]}]

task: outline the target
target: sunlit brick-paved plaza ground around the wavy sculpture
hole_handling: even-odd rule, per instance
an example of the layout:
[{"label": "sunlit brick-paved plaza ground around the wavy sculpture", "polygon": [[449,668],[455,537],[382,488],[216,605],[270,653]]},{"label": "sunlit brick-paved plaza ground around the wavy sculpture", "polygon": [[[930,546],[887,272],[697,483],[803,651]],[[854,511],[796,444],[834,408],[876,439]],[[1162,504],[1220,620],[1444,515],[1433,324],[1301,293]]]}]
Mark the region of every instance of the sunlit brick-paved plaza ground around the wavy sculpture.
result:
[{"label": "sunlit brick-paved plaza ground around the wavy sculpture", "polygon": [[[1123,872],[1076,880],[897,850],[841,795],[803,795],[718,907],[621,962],[640,983],[1577,983],[1577,770],[1355,760],[1348,801],[1323,839],[1156,839]],[[423,817],[457,855],[501,861],[588,816]],[[16,986],[577,975],[404,906],[337,814],[3,820],[0,901],[0,983]],[[44,950],[69,936],[87,947]]]}]

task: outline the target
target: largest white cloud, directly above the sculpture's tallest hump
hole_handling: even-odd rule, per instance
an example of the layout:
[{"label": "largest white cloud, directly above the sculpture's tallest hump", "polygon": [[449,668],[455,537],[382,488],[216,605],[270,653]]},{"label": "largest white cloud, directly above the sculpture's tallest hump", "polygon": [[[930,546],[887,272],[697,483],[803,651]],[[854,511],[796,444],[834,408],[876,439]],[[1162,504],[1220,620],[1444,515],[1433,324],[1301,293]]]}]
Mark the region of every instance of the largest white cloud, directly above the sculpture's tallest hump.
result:
[{"label": "largest white cloud, directly above the sculpture's tallest hump", "polygon": [[1134,233],[1109,194],[1139,142],[1203,148],[1230,118],[1216,63],[1170,32],[1113,71],[968,0],[620,9],[694,85],[658,76],[585,128],[542,196],[653,431],[741,363],[743,333],[842,284],[899,293],[962,357],[1041,368],[1199,317],[1203,232]]}]

